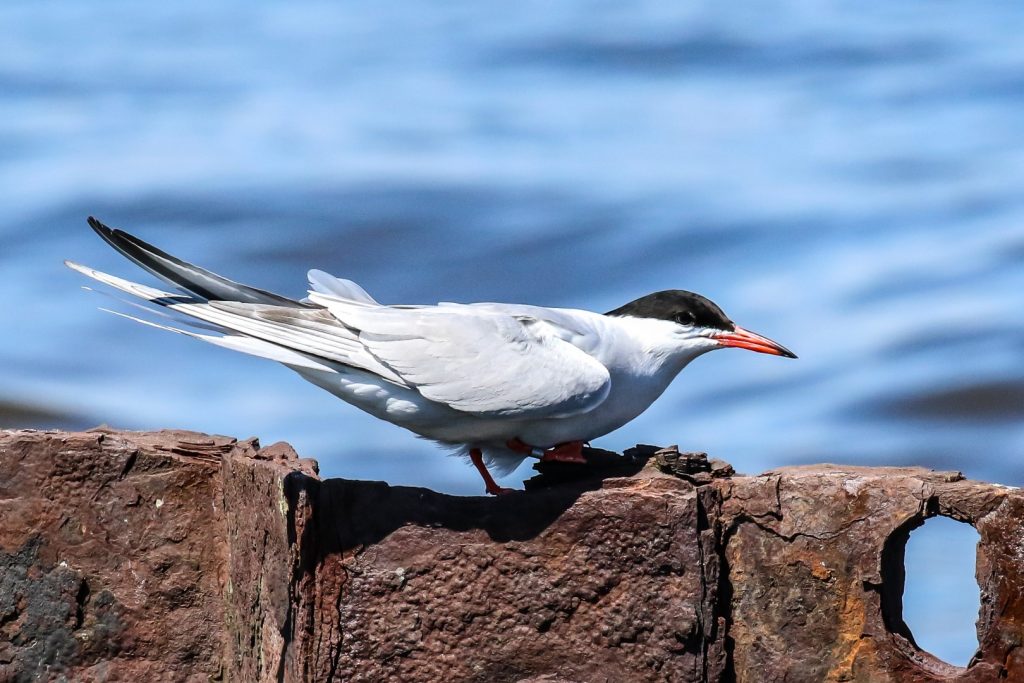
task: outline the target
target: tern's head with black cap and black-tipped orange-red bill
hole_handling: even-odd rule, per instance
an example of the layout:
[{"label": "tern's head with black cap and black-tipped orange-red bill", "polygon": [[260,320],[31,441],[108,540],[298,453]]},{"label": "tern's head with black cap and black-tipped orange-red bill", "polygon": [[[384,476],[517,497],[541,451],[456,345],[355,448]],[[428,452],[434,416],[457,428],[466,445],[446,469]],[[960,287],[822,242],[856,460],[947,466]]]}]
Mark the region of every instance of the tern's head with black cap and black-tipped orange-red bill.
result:
[{"label": "tern's head with black cap and black-tipped orange-red bill", "polygon": [[797,357],[781,344],[739,327],[714,301],[693,292],[655,292],[605,314],[664,321],[670,325],[658,325],[659,332],[668,334],[681,350],[693,355],[733,347],[786,358]]}]

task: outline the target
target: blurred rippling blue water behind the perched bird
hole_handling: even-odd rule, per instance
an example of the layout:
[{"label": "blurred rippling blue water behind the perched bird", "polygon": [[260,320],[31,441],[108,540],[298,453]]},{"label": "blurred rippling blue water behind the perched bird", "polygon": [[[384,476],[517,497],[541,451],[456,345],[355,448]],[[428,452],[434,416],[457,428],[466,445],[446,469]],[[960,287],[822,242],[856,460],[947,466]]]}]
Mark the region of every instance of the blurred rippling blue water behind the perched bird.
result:
[{"label": "blurred rippling blue water behind the perched bird", "polygon": [[9,0],[0,26],[0,426],[255,434],[480,493],[287,370],[98,312],[61,259],[140,271],[92,214],[291,296],[309,267],[391,303],[697,291],[800,359],[705,356],[598,445],[1024,483],[1014,3]]}]

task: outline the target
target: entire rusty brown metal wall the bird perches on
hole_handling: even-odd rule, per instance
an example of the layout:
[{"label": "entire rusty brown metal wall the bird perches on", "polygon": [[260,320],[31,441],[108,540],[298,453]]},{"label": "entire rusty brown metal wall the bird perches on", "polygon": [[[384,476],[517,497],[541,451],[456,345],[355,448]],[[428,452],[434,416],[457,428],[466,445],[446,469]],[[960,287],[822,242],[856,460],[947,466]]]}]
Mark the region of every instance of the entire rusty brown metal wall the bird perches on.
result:
[{"label": "entire rusty brown metal wall the bird perches on", "polygon": [[[321,480],[253,439],[0,432],[0,683],[1024,681],[1019,492],[588,458],[459,498]],[[901,617],[906,539],[937,514],[981,536],[965,669]]]}]

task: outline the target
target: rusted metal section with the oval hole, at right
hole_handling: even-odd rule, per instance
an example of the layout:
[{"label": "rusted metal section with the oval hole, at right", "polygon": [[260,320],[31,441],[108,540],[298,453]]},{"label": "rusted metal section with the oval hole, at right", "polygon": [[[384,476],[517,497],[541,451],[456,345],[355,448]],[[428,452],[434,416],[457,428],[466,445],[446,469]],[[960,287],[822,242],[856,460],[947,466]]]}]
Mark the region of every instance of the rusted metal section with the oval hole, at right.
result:
[{"label": "rusted metal section with the oval hole, at right", "polygon": [[[738,681],[1024,681],[1024,496],[919,468],[815,465],[720,483]],[[981,653],[921,651],[903,550],[936,514],[981,533]]]}]

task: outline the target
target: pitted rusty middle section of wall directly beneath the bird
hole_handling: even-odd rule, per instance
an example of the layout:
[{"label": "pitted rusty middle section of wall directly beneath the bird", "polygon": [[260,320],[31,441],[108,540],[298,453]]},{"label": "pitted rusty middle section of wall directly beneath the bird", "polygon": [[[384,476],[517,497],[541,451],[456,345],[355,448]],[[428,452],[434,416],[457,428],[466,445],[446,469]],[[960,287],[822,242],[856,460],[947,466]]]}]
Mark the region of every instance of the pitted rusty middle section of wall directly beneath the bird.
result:
[{"label": "pitted rusty middle section of wall directly beneath the bird", "polygon": [[313,680],[700,681],[724,650],[682,482],[490,501],[330,481],[318,501],[348,519],[309,529],[340,589],[308,612]]}]

